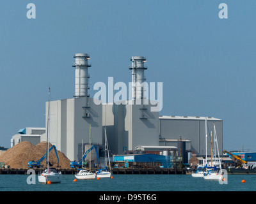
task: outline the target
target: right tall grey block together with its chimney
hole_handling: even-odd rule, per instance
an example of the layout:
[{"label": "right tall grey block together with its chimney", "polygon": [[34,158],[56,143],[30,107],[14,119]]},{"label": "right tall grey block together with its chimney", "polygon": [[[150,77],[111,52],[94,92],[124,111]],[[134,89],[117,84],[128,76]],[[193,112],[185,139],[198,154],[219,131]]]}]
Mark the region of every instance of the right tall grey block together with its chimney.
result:
[{"label": "right tall grey block together with its chimney", "polygon": [[[103,105],[103,126],[106,126],[109,148],[113,154],[134,150],[138,145],[158,145],[159,112],[152,112],[156,103],[148,100],[144,66],[145,57],[132,57],[132,99]],[[155,102],[155,101],[154,101]]]}]

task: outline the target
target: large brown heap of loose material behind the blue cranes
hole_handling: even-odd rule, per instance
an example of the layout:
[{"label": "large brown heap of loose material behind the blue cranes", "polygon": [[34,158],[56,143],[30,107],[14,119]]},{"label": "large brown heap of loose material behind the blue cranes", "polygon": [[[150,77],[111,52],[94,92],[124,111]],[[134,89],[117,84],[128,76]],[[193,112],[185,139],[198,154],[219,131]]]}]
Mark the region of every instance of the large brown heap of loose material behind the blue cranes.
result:
[{"label": "large brown heap of loose material behind the blue cranes", "polygon": [[[51,148],[51,143],[49,147]],[[11,168],[28,168],[29,161],[37,161],[44,156],[46,152],[46,142],[40,142],[37,145],[32,145],[32,143],[24,141],[8,149],[2,156],[0,156],[0,161],[3,161],[5,165],[10,165]],[[70,160],[58,151],[59,157],[59,168],[70,168]],[[47,159],[47,157],[46,157]],[[53,165],[53,168],[58,168],[58,160],[54,149],[49,153],[49,161]],[[45,167],[45,159],[41,162]]]}]

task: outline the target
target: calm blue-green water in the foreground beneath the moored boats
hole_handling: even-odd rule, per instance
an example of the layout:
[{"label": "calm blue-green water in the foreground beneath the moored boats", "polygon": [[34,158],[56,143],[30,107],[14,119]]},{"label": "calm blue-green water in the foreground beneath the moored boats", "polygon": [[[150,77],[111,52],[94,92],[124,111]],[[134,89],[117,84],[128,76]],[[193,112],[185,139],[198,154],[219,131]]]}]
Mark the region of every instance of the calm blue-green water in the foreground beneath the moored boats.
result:
[{"label": "calm blue-green water in the foreground beneath the moored boats", "polygon": [[[77,180],[63,175],[61,184],[27,184],[28,175],[0,175],[0,191],[256,191],[256,175],[228,175],[228,184],[191,175],[113,175],[113,179]],[[245,180],[245,183],[241,183]]]}]

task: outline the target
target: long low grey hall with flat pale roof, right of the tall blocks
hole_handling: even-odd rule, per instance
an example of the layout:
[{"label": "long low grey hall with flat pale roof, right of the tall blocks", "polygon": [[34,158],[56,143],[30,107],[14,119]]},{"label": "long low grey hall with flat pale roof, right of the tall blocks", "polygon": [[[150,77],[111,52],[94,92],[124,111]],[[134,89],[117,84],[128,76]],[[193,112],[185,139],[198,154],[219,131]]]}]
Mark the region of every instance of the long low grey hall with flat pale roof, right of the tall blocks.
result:
[{"label": "long low grey hall with flat pale roof, right of the tall blocks", "polygon": [[219,151],[223,152],[223,120],[213,117],[160,116],[159,145],[178,147],[182,142],[183,145],[186,145],[186,150],[205,155],[205,120],[207,120],[207,154],[211,155],[213,124],[216,126]]}]

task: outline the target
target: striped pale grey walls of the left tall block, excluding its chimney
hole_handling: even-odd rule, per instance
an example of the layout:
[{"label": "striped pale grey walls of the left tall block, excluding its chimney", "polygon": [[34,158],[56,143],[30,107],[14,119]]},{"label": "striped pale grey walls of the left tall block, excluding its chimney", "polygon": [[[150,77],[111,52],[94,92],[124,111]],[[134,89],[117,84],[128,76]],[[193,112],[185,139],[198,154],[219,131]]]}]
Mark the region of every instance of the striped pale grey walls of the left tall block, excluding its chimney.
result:
[{"label": "striped pale grey walls of the left tall block, excluding its chimney", "polygon": [[[46,113],[47,110],[48,102]],[[47,115],[45,120],[47,129]],[[95,105],[93,99],[87,97],[51,101],[49,142],[70,161],[78,159],[78,147],[82,140],[89,143],[90,124],[92,143],[102,145],[102,105]]]}]

